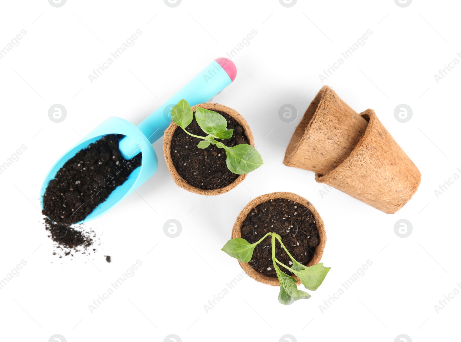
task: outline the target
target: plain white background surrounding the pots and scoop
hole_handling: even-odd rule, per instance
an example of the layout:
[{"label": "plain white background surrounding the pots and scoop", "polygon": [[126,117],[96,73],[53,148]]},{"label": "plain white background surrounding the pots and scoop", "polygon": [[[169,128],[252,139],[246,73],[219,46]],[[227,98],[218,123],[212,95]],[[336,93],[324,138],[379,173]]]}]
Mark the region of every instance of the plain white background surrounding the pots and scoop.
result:
[{"label": "plain white background surrounding the pots and scoop", "polygon": [[[291,334],[297,341],[392,342],[406,334],[454,341],[461,295],[438,313],[434,305],[461,282],[461,180],[438,198],[434,190],[461,175],[461,65],[438,83],[434,74],[461,61],[460,9],[457,1],[428,0],[406,8],[392,0],[298,0],[291,8],[278,0],[183,0],[176,8],[161,0],[68,0],[60,8],[46,0],[2,1],[0,48],[21,29],[27,34],[0,59],[0,164],[22,144],[27,150],[0,175],[0,277],[22,259],[27,265],[0,290],[0,339],[163,341],[176,334],[182,341],[278,341]],[[88,75],[136,29],[136,44],[91,83]],[[87,224],[100,238],[96,253],[53,256],[38,208],[54,161],[109,116],[138,124],[252,29],[257,35],[233,58],[236,80],[213,101],[246,118],[265,164],[231,192],[207,198],[175,185],[160,139],[159,171],[139,195]],[[367,29],[366,44],[322,84],[319,74]],[[399,212],[385,214],[336,189],[322,196],[313,172],[282,164],[296,124],[324,84],[357,112],[374,109],[419,167],[420,188]],[[67,109],[61,123],[47,115],[55,103]],[[286,103],[299,112],[290,124],[278,117]],[[402,103],[413,109],[407,123],[394,118]],[[311,299],[289,307],[278,303],[277,288],[246,277],[206,313],[208,300],[242,271],[220,251],[235,218],[250,199],[272,191],[312,201],[325,221],[322,261],[331,272]],[[171,218],[182,224],[177,238],[163,232]],[[407,238],[394,233],[401,218],[413,225]],[[90,313],[89,304],[137,259],[135,276]],[[319,305],[368,259],[365,276],[322,313]]]}]

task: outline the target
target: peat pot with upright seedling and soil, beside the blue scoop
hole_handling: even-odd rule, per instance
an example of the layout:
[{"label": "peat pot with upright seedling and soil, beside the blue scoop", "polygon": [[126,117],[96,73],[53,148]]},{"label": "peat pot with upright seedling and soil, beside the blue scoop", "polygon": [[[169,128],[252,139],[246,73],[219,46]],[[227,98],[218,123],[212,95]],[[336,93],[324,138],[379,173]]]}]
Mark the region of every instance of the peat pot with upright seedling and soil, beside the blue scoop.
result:
[{"label": "peat pot with upright seedling and soil, beside the blue scoop", "polygon": [[180,100],[171,119],[163,150],[171,176],[183,189],[219,195],[263,164],[247,122],[232,108],[217,103],[191,107]]}]

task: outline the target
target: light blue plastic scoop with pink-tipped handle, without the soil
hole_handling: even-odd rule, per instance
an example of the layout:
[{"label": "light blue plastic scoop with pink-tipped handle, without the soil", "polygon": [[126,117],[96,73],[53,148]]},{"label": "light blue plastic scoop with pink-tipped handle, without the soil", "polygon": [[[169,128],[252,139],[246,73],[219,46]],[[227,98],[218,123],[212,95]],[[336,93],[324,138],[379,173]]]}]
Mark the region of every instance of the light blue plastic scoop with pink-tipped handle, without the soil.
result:
[{"label": "light blue plastic scoop with pink-tipped handle, without the soil", "polygon": [[171,107],[181,99],[187,100],[191,106],[206,102],[231,84],[235,76],[236,66],[230,59],[215,59],[138,126],[118,117],[110,117],[105,120],[58,159],[48,171],[40,191],[41,208],[43,209],[43,196],[49,182],[54,179],[67,160],[103,136],[121,134],[125,136],[118,145],[122,156],[129,160],[142,152],[142,164],[130,174],[122,185],[115,188],[104,202],[100,203],[93,212],[78,223],[88,222],[111,210],[157,171],[158,159],[152,143],[163,136],[163,132],[170,125]]}]

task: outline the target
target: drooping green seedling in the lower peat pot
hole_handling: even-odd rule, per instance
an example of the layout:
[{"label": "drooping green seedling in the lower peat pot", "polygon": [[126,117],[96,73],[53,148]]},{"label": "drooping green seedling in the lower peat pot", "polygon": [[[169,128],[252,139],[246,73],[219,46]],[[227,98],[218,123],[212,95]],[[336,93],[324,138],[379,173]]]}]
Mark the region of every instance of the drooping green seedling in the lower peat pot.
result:
[{"label": "drooping green seedling in the lower peat pot", "polygon": [[[280,235],[276,233],[267,233],[259,241],[255,243],[249,243],[247,240],[242,238],[236,238],[229,240],[224,247],[221,249],[225,253],[229,254],[232,258],[236,258],[241,262],[249,262],[253,256],[253,250],[260,242],[262,242],[267,236],[272,236],[272,262],[274,269],[277,273],[278,281],[280,282],[280,293],[278,294],[278,301],[284,305],[290,305],[298,299],[309,299],[311,295],[307,292],[301,291],[296,285],[296,279],[290,277],[284,273],[278,265],[283,266],[287,270],[293,272],[296,277],[301,280],[301,283],[308,290],[315,291],[322,284],[328,271],[331,267],[324,267],[323,263],[313,265],[311,267],[304,266],[297,262],[295,258],[290,254],[285,245],[282,242]],[[275,244],[276,239],[280,242],[280,245],[288,254],[290,259],[293,261],[293,265],[288,267],[282,264],[275,256]],[[277,265],[278,264],[278,265]]]}]

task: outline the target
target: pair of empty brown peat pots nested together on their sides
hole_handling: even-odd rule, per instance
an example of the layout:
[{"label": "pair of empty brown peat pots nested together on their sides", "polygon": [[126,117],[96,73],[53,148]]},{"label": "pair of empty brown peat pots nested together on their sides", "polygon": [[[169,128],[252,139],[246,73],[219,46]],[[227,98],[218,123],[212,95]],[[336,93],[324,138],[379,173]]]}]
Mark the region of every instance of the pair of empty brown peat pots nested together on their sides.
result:
[{"label": "pair of empty brown peat pots nested together on their sides", "polygon": [[421,174],[376,113],[357,114],[324,86],[296,127],[284,164],[392,214],[414,195]]}]

